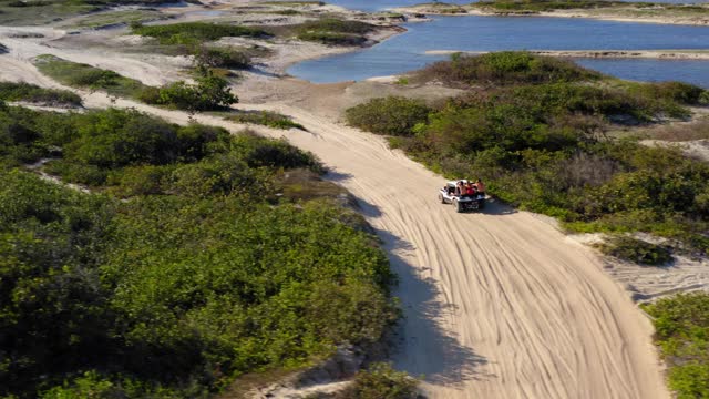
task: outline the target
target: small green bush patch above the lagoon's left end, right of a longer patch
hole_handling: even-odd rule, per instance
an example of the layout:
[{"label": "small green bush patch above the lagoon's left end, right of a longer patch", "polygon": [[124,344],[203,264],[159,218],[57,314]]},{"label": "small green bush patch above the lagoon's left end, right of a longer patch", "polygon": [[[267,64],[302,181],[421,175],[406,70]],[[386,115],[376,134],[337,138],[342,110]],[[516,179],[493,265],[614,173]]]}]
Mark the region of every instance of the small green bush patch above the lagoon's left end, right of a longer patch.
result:
[{"label": "small green bush patch above the lagoon's left end, right of a longer patch", "polygon": [[323,18],[304,22],[295,27],[296,38],[330,45],[361,45],[367,42],[364,34],[374,25],[361,21]]}]

